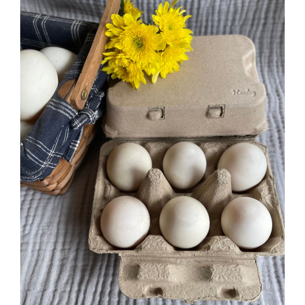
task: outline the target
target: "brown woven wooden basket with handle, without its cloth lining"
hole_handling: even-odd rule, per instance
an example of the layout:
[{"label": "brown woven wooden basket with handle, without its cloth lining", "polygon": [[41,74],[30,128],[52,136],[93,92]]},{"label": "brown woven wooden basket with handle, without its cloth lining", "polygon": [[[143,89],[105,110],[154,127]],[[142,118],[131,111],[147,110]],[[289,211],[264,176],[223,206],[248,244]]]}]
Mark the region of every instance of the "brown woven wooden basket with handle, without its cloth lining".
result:
[{"label": "brown woven wooden basket with handle, without its cloth lining", "polygon": [[[77,111],[84,107],[88,92],[91,90],[102,61],[102,52],[105,51],[105,45],[108,40],[108,37],[105,35],[105,31],[107,30],[106,23],[111,22],[111,14],[118,13],[119,8],[120,0],[108,0],[102,20],[78,80],[69,80],[58,90],[59,95]],[[34,182],[21,182],[20,185],[29,186],[50,195],[64,194],[69,189],[74,178],[75,170],[83,161],[88,145],[93,140],[94,136],[95,125],[85,125],[81,141],[70,163],[61,158],[48,177]]]}]

